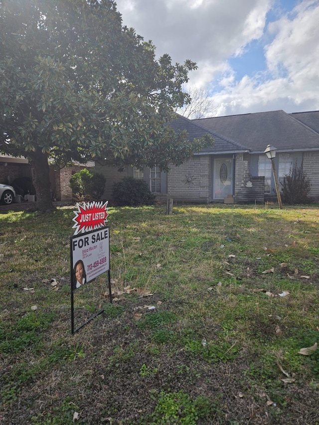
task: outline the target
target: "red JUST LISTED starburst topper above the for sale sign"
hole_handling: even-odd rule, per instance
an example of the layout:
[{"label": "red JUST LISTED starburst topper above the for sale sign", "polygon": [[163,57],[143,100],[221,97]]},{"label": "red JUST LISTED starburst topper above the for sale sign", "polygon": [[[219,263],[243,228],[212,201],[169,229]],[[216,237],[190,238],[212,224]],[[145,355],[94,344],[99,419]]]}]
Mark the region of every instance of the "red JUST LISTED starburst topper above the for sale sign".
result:
[{"label": "red JUST LISTED starburst topper above the for sale sign", "polygon": [[103,202],[88,202],[81,204],[76,204],[78,210],[74,211],[75,217],[73,218],[74,225],[72,229],[74,230],[74,235],[82,232],[89,232],[90,230],[95,230],[100,227],[105,226],[105,223],[108,221],[108,201],[104,204]]}]

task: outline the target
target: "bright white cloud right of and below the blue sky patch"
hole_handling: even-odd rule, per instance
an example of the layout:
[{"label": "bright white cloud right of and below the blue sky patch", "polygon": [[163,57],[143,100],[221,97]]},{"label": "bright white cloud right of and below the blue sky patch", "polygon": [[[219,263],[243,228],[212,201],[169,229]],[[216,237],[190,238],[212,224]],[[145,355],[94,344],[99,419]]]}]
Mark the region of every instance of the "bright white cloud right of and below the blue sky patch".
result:
[{"label": "bright white cloud right of and below the blue sky patch", "polygon": [[318,1],[303,1],[292,16],[269,25],[274,39],[265,47],[267,72],[230,82],[214,95],[217,115],[319,109]]}]

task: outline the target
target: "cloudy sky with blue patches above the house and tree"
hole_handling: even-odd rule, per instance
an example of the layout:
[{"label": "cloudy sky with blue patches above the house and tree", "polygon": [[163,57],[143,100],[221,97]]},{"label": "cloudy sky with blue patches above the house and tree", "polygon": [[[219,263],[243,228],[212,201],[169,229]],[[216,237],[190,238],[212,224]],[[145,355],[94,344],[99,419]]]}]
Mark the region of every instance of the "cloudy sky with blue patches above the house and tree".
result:
[{"label": "cloudy sky with blue patches above the house and tree", "polygon": [[214,116],[319,110],[319,0],[117,0],[157,56],[195,61]]}]

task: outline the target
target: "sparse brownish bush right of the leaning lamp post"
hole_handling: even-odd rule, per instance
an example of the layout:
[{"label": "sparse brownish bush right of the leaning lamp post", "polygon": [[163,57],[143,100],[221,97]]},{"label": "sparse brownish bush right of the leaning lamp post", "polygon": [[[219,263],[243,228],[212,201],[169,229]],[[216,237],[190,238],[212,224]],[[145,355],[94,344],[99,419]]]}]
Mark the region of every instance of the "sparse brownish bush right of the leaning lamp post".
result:
[{"label": "sparse brownish bush right of the leaning lamp post", "polygon": [[311,180],[302,167],[290,169],[290,173],[285,175],[282,183],[282,201],[286,204],[308,204],[313,202],[309,192],[311,190]]}]

